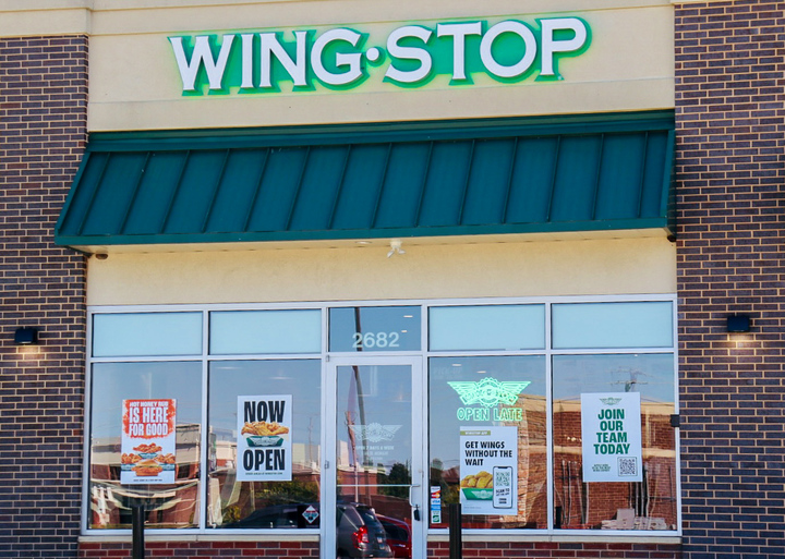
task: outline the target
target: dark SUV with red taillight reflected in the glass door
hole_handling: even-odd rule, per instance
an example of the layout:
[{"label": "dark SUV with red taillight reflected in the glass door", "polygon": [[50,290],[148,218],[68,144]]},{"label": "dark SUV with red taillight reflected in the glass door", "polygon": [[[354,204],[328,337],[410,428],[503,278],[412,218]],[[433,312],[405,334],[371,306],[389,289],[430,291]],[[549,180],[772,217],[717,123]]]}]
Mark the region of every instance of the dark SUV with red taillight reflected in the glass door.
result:
[{"label": "dark SUV with red taillight reflected in the glass door", "polygon": [[339,502],[337,522],[339,558],[392,556],[385,528],[367,505]]}]

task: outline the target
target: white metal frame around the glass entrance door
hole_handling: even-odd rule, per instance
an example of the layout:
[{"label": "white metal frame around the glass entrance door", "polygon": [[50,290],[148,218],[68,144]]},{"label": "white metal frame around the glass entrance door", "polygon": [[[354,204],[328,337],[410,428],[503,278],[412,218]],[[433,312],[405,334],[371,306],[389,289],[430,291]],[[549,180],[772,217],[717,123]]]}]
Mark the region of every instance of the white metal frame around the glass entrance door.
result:
[{"label": "white metal frame around the glass entrance door", "polygon": [[[351,354],[328,356],[323,363],[323,409],[325,418],[322,448],[324,449],[322,475],[322,511],[319,557],[336,558],[336,507],[337,507],[337,368],[340,366],[409,366],[412,374],[412,488],[410,502],[419,507],[420,520],[411,519],[412,559],[422,559],[426,554],[427,527],[427,378],[424,374],[425,359],[422,355],[386,353],[373,356]],[[412,511],[414,508],[412,508]]]}]

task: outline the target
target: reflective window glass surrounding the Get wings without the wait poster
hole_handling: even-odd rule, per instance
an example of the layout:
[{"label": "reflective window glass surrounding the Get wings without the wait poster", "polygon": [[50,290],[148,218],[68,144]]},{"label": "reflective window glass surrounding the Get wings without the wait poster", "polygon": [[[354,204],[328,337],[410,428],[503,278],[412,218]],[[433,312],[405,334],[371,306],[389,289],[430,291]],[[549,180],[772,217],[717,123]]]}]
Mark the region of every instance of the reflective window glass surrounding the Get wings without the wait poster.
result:
[{"label": "reflective window glass surrounding the Get wings without the wait poster", "polygon": [[[495,381],[530,384],[508,404],[487,389]],[[456,382],[485,390],[476,399],[461,398]],[[463,527],[546,528],[545,357],[436,357],[430,361],[428,386],[431,486],[442,487],[442,522],[431,527],[447,527],[447,505],[459,502],[460,427],[498,425],[518,428],[517,514],[463,515]]]}]

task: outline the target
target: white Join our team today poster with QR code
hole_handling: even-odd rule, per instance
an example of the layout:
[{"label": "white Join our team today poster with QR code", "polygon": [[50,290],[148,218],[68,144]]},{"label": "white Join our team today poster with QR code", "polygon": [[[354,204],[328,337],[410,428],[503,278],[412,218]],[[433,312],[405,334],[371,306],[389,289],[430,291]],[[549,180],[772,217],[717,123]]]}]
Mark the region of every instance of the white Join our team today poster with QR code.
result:
[{"label": "white Join our team today poster with QR code", "polygon": [[639,392],[581,394],[584,482],[642,479]]}]

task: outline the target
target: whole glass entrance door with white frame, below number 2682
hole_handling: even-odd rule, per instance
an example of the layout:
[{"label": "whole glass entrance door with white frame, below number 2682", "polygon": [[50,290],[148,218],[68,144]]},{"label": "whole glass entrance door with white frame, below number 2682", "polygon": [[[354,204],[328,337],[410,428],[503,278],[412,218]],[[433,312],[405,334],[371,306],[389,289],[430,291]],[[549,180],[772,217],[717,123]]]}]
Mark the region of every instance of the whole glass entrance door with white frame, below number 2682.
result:
[{"label": "whole glass entrance door with white frame, below number 2682", "polygon": [[[423,558],[420,362],[331,361],[335,432],[323,557]],[[330,443],[331,442],[331,443]]]}]

